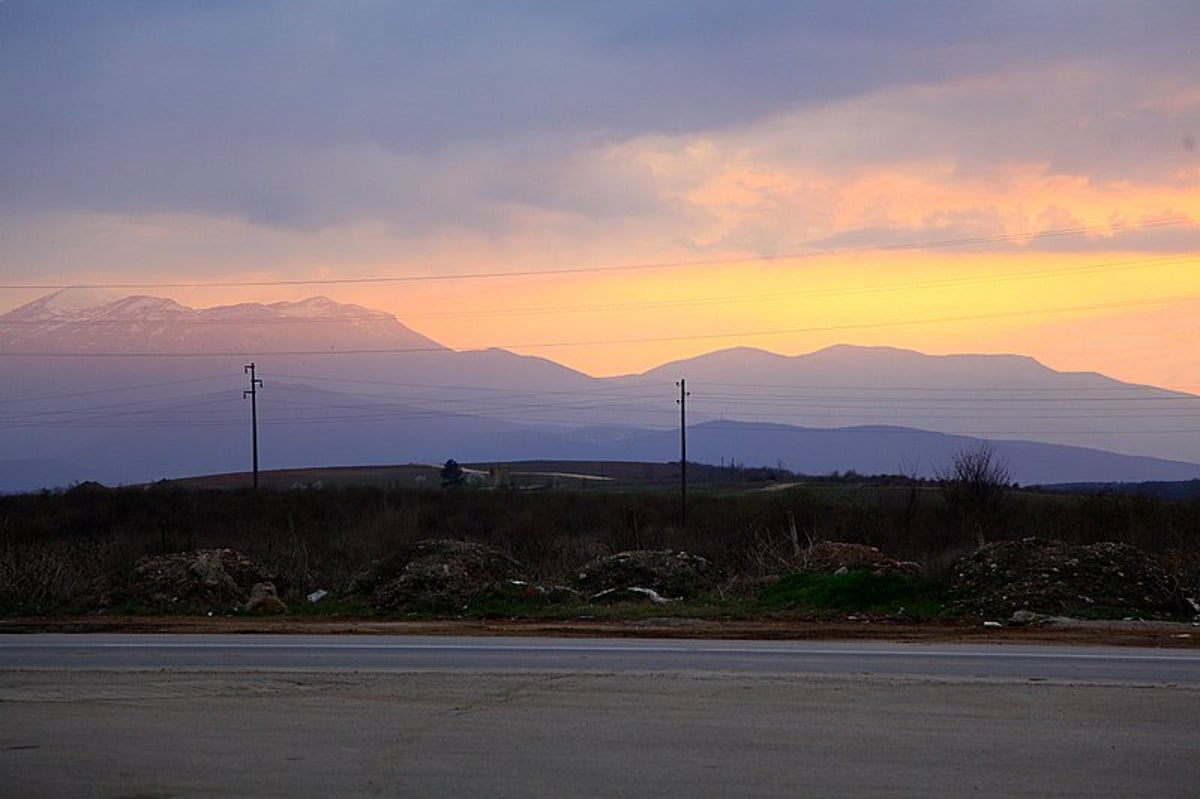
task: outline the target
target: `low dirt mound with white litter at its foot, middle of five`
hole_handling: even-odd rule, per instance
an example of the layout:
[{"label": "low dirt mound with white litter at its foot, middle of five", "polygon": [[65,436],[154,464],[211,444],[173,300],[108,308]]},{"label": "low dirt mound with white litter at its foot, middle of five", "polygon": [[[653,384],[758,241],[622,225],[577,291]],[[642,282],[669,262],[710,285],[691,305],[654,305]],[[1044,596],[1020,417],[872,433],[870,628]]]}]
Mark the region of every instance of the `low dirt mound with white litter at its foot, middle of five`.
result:
[{"label": "low dirt mound with white litter at its foot, middle of five", "polygon": [[664,597],[696,596],[716,584],[712,564],[688,552],[637,549],[592,560],[576,575],[578,588],[590,595],[642,588]]}]

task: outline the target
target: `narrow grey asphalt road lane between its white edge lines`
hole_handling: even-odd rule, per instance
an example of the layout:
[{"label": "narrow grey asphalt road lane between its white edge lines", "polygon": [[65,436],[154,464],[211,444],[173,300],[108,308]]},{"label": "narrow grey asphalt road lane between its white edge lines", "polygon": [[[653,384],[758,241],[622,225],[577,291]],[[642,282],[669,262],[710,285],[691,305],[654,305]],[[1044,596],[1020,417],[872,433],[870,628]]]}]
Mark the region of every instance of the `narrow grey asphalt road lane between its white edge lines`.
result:
[{"label": "narrow grey asphalt road lane between its white edge lines", "polygon": [[1200,684],[1200,650],[1013,644],[32,635],[0,637],[0,668],[701,671]]}]

